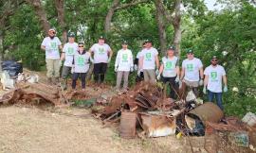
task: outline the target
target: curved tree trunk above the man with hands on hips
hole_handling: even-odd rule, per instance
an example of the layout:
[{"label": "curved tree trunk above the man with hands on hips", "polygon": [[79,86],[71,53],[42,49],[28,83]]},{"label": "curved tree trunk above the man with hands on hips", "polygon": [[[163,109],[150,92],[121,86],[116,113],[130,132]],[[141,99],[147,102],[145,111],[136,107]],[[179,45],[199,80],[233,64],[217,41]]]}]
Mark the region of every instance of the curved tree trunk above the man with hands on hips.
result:
[{"label": "curved tree trunk above the man with hands on hips", "polygon": [[112,17],[114,15],[115,8],[119,6],[119,2],[120,2],[119,0],[114,0],[111,8],[108,9],[107,15],[105,17],[105,24],[104,24],[105,34],[107,34],[110,31]]}]

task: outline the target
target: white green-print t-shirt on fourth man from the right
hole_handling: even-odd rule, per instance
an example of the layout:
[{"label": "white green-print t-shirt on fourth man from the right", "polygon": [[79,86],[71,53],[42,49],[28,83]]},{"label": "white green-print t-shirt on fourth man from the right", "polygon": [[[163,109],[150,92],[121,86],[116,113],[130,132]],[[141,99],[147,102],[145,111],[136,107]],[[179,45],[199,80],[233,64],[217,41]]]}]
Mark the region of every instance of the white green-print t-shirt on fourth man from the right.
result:
[{"label": "white green-print t-shirt on fourth man from the right", "polygon": [[145,48],[140,53],[140,58],[143,58],[143,70],[155,70],[155,56],[158,56],[158,51],[154,48]]}]

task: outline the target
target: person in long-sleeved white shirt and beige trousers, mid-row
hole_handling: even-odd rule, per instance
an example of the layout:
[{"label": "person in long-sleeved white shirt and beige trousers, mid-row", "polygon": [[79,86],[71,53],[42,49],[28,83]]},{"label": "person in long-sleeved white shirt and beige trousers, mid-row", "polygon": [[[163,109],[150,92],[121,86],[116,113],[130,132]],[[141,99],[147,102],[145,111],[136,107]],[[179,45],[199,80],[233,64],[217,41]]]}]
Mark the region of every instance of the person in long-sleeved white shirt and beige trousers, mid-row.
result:
[{"label": "person in long-sleeved white shirt and beige trousers, mid-row", "polygon": [[133,54],[130,49],[128,49],[128,43],[126,41],[122,42],[122,49],[119,50],[116,62],[115,62],[115,72],[117,75],[117,86],[116,89],[119,91],[120,83],[123,77],[123,91],[127,91],[128,87],[128,77],[129,73],[134,71],[134,61]]}]

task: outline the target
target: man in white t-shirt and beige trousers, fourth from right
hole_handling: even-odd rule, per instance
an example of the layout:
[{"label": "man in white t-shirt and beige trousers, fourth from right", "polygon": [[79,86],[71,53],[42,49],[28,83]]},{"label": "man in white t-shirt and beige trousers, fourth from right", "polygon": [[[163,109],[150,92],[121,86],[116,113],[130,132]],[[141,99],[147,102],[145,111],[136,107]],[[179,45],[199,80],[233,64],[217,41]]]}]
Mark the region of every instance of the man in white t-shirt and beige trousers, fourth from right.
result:
[{"label": "man in white t-shirt and beige trousers, fourth from right", "polygon": [[158,68],[158,51],[152,46],[152,42],[147,40],[146,48],[144,48],[140,53],[137,73],[143,71],[144,80],[146,82],[155,83],[155,74],[158,75]]}]

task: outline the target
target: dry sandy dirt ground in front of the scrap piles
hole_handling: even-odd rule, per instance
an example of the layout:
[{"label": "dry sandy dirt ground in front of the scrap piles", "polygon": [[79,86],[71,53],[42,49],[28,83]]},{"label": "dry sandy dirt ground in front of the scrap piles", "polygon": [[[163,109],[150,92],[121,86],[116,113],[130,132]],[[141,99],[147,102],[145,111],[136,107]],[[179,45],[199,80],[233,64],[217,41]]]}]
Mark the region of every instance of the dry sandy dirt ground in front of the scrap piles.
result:
[{"label": "dry sandy dirt ground in front of the scrap piles", "polygon": [[185,138],[121,139],[118,131],[102,127],[88,110],[11,106],[0,108],[0,118],[1,153],[190,152]]}]

